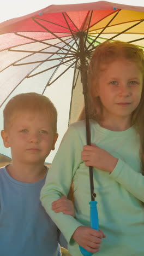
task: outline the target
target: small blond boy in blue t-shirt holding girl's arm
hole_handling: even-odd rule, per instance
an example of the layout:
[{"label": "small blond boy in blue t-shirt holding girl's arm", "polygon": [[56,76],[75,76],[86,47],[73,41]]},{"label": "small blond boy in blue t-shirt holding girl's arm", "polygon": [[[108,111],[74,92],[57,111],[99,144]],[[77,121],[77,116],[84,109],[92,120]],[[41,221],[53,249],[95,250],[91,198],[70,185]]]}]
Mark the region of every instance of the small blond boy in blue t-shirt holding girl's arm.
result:
[{"label": "small blond boy in blue t-shirt holding girl's arm", "polygon": [[[57,110],[49,98],[31,92],[11,98],[3,115],[1,135],[4,146],[11,148],[12,162],[0,171],[0,254],[61,255],[59,231],[39,200],[45,158],[58,137]],[[59,211],[65,205],[73,215],[71,202],[61,197]]]}]

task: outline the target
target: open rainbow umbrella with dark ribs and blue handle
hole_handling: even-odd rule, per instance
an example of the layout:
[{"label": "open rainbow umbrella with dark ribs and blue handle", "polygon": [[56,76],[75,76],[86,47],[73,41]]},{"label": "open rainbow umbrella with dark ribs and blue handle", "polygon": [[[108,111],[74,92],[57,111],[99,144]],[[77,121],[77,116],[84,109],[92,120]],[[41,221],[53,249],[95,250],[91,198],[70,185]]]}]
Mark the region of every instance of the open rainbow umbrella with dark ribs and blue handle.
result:
[{"label": "open rainbow umbrella with dark ribs and blue handle", "polygon": [[[53,91],[56,102],[59,101],[69,114],[68,125],[77,119],[85,102],[87,144],[91,144],[87,109],[89,60],[95,47],[106,40],[123,40],[143,49],[143,19],[144,7],[99,1],[50,5],[35,13],[2,22],[1,109],[17,93],[35,91],[49,96]],[[64,102],[66,91],[69,91],[68,106]],[[60,120],[62,124],[62,118]],[[3,150],[0,153],[3,154]],[[98,229],[92,167],[89,167],[89,178],[91,226]],[[83,255],[92,255],[80,249]]]}]

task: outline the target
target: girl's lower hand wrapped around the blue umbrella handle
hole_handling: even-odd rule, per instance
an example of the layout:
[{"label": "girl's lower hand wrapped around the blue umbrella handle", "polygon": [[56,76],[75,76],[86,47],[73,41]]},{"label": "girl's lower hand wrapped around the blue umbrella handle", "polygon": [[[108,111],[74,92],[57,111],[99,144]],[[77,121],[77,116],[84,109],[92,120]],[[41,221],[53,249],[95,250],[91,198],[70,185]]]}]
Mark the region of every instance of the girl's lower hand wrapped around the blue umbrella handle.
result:
[{"label": "girl's lower hand wrapped around the blue umbrella handle", "polygon": [[106,237],[103,231],[98,231],[88,226],[79,226],[73,234],[73,239],[78,245],[91,253],[99,251],[103,237]]}]

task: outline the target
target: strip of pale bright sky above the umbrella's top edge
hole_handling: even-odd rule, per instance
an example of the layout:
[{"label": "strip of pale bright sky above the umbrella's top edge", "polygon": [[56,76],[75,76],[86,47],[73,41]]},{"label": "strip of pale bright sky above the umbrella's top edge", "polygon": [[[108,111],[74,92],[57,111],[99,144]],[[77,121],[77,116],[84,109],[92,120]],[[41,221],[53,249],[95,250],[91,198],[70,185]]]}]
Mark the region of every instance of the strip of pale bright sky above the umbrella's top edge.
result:
[{"label": "strip of pale bright sky above the umbrella's top edge", "polygon": [[[0,3],[0,22],[17,18],[34,11],[43,9],[51,4],[76,4],[76,3],[91,3],[98,2],[96,0],[1,0]],[[144,6],[143,0],[111,0],[108,2]]]}]

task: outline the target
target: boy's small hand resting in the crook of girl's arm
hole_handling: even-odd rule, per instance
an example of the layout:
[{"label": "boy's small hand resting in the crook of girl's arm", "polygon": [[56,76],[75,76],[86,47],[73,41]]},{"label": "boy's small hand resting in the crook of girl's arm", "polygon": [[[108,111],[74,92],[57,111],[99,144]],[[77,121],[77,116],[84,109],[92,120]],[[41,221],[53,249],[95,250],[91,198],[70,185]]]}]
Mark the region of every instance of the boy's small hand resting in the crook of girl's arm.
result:
[{"label": "boy's small hand resting in the crook of girl's arm", "polygon": [[67,199],[66,196],[62,196],[60,199],[52,202],[52,210],[56,213],[63,212],[64,214],[75,217],[75,209],[73,202]]}]

